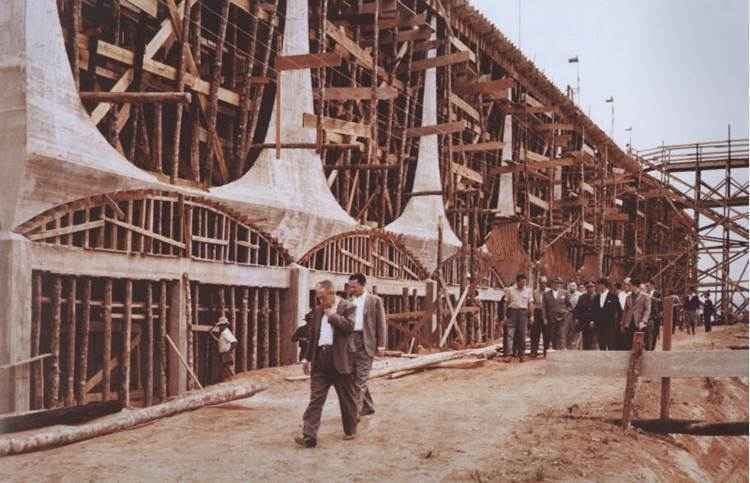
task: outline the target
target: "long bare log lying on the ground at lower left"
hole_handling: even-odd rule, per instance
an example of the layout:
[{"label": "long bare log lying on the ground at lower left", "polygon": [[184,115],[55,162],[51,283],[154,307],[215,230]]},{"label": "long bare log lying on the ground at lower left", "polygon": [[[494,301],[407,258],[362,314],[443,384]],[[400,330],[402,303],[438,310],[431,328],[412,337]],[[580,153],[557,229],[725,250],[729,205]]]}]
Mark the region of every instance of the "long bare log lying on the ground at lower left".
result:
[{"label": "long bare log lying on the ground at lower left", "polygon": [[123,409],[78,426],[50,426],[0,437],[0,456],[27,453],[62,446],[146,424],[156,419],[253,396],[267,388],[251,382],[234,381],[193,391],[154,406]]}]

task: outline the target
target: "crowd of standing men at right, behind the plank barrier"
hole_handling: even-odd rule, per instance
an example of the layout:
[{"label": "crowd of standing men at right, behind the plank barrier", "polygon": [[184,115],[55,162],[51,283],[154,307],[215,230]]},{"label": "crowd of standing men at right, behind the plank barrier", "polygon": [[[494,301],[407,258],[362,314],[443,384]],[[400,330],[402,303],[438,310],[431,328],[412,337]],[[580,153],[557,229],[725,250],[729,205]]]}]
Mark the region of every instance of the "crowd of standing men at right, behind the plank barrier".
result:
[{"label": "crowd of standing men at right, behind the plank barrier", "polygon": [[646,348],[653,350],[661,325],[661,300],[650,283],[625,279],[612,286],[606,278],[564,286],[562,279],[549,283],[540,277],[532,289],[526,275],[505,291],[504,355],[524,361],[529,331],[531,357],[537,357],[541,341],[543,355],[555,350],[629,350],[633,333],[646,333]]}]

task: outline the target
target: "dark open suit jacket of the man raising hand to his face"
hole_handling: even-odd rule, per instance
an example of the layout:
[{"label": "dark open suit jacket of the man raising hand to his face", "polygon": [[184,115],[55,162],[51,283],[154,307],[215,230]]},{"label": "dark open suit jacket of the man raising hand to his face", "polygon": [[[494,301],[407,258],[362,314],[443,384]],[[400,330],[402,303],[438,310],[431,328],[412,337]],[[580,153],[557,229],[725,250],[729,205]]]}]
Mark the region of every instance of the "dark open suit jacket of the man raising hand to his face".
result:
[{"label": "dark open suit jacket of the man raising hand to his face", "polygon": [[[336,313],[328,316],[328,323],[333,328],[333,364],[339,374],[351,374],[354,369],[354,352],[352,351],[351,335],[354,330],[355,307],[346,300],[340,300]],[[307,346],[305,359],[315,367],[320,340],[320,321],[323,319],[323,308],[318,306],[313,310],[310,326],[310,343]]]}]

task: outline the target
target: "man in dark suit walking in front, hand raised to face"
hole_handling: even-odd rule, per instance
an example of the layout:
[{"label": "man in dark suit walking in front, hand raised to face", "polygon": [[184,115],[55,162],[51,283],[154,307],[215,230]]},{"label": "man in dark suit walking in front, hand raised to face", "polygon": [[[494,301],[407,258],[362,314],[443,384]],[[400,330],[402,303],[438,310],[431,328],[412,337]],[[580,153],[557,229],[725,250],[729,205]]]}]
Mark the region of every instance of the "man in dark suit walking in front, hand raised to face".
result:
[{"label": "man in dark suit walking in front, hand raised to face", "polygon": [[302,436],[294,441],[314,448],[323,405],[333,386],[339,397],[344,439],[357,434],[357,402],[354,396],[354,353],[351,335],[354,330],[354,306],[337,299],[333,283],[320,282],[316,289],[318,306],[313,311],[310,344],[302,360],[305,374],[310,374],[310,403],[303,416]]}]

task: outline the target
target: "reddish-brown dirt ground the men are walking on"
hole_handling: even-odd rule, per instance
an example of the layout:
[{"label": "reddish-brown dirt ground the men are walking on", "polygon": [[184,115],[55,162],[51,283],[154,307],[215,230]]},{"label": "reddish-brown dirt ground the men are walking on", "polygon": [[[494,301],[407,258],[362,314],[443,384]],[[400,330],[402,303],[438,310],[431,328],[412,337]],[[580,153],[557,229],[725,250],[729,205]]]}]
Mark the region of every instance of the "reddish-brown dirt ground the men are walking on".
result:
[{"label": "reddish-brown dirt ground the men are walking on", "polygon": [[[678,333],[674,349],[747,345],[747,327]],[[488,361],[371,383],[377,413],[343,441],[331,391],[318,448],[297,448],[299,367],[259,371],[252,398],[62,448],[0,459],[0,481],[748,481],[748,438],[622,430],[624,379],[551,378],[545,362]],[[659,411],[639,385],[636,417]],[[747,379],[672,382],[675,418],[747,421]]]}]

